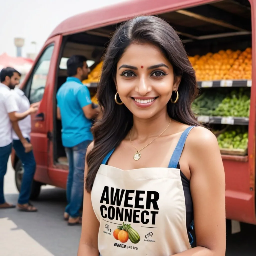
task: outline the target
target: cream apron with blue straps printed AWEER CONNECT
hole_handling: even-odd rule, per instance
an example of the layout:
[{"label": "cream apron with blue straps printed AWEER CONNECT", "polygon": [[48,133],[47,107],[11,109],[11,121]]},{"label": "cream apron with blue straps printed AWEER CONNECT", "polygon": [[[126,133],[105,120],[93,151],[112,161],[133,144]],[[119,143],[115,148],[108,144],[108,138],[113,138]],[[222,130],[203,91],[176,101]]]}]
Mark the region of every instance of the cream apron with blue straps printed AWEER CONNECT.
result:
[{"label": "cream apron with blue straps printed AWEER CONNECT", "polygon": [[[101,256],[169,256],[191,248],[184,190],[180,169],[176,167],[193,127],[181,135],[168,168],[124,171],[106,165],[114,150],[104,158],[91,192],[92,206],[100,222]],[[132,230],[118,236],[116,229],[123,223],[130,224]]]}]

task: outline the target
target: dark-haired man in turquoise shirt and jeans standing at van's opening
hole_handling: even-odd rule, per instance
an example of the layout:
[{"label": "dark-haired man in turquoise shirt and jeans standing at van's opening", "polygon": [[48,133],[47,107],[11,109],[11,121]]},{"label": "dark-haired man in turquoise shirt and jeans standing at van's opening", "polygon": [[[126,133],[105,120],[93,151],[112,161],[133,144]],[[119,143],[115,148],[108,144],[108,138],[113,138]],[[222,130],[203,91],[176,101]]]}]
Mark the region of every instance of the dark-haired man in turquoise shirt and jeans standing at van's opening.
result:
[{"label": "dark-haired man in turquoise shirt and jeans standing at van's opening", "polygon": [[80,55],[68,59],[68,78],[57,93],[57,118],[61,119],[62,144],[69,162],[68,205],[64,219],[70,226],[81,224],[79,209],[83,198],[86,150],[93,140],[92,119],[100,113],[98,107],[92,108],[90,92],[81,82],[90,72],[86,61],[86,57]]}]

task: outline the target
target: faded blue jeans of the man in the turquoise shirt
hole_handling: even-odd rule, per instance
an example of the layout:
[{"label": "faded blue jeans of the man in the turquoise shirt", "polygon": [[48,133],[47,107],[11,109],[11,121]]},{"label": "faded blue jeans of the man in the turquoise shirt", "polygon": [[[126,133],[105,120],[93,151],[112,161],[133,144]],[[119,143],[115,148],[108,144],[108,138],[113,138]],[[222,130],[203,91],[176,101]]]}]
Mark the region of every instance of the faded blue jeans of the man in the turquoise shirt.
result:
[{"label": "faded blue jeans of the man in the turquoise shirt", "polygon": [[84,165],[86,150],[91,141],[84,141],[74,147],[66,147],[69,173],[66,187],[66,212],[73,218],[80,216],[79,209],[83,200]]}]

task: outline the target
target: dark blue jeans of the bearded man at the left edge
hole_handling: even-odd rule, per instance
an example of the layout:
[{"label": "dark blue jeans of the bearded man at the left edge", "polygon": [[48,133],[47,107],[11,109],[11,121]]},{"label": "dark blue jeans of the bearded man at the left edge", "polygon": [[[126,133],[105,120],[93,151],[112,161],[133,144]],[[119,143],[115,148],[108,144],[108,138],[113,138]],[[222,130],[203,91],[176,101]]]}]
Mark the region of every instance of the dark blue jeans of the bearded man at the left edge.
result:
[{"label": "dark blue jeans of the bearded man at the left edge", "polygon": [[5,203],[4,175],[6,174],[7,162],[11,152],[12,152],[12,143],[5,147],[0,147],[0,204]]}]

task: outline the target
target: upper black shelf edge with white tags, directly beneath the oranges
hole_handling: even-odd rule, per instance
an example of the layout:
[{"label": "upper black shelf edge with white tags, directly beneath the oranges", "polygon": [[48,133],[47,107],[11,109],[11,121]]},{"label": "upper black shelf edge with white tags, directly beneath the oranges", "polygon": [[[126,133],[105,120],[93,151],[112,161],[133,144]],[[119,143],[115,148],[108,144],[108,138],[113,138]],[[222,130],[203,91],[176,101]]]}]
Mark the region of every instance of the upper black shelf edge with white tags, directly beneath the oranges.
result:
[{"label": "upper black shelf edge with white tags, directly beneath the oranges", "polygon": [[218,80],[218,81],[198,81],[199,88],[211,87],[251,87],[252,80]]}]

